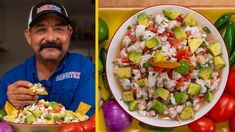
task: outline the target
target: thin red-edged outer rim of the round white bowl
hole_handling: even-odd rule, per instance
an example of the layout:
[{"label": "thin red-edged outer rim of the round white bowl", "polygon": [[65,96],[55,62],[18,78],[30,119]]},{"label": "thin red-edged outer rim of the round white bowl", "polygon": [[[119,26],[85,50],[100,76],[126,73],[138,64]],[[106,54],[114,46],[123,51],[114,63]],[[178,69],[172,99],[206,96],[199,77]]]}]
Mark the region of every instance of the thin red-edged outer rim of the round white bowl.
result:
[{"label": "thin red-edged outer rim of the round white bowl", "polygon": [[[108,69],[107,69],[107,67],[108,67],[108,66],[107,66],[107,65],[108,65],[107,60],[108,60],[108,55],[109,55],[109,51],[110,51],[109,49],[110,49],[111,43],[113,42],[113,39],[114,39],[115,35],[116,35],[117,32],[119,31],[119,29],[122,27],[122,25],[124,25],[124,23],[126,23],[129,19],[131,19],[131,17],[133,17],[133,16],[139,14],[140,12],[143,12],[144,10],[148,10],[149,8],[157,8],[157,7],[161,7],[161,6],[167,6],[167,7],[169,7],[169,8],[172,8],[172,7],[184,8],[184,9],[186,9],[186,10],[188,10],[188,11],[193,12],[194,14],[196,13],[196,14],[199,15],[200,17],[205,18],[205,19],[209,22],[209,24],[219,33],[218,29],[214,26],[213,22],[212,22],[211,20],[209,20],[206,16],[204,16],[204,15],[202,15],[201,13],[199,13],[198,11],[196,11],[195,9],[192,9],[192,8],[189,8],[189,7],[186,7],[186,6],[182,6],[182,5],[178,5],[178,4],[158,4],[158,5],[153,5],[153,6],[145,7],[145,8],[143,8],[143,9],[140,9],[139,11],[133,13],[133,14],[132,14],[131,16],[129,16],[128,18],[126,18],[126,19],[119,25],[119,27],[116,29],[116,31],[113,33],[112,38],[110,39],[110,42],[109,42],[109,45],[108,45],[108,48],[107,48],[107,57],[106,57],[106,60],[105,60],[105,70],[106,70],[106,72],[108,71]],[[220,33],[219,33],[219,36],[222,38],[223,43],[221,43],[221,44],[224,45],[225,51],[226,51],[226,55],[225,55],[226,58],[224,58],[224,59],[227,59],[227,62],[228,62],[228,64],[226,65],[226,67],[228,67],[228,68],[227,68],[227,69],[228,69],[228,70],[227,70],[227,73],[228,73],[228,71],[229,71],[229,69],[230,69],[230,61],[229,61],[229,58],[228,58],[228,50],[227,50],[227,47],[226,47],[226,45],[225,45],[224,39],[223,39],[223,37],[221,36]],[[108,71],[108,72],[109,72],[109,71]],[[110,71],[110,72],[111,72],[111,71]],[[223,72],[226,72],[226,71],[223,71]],[[119,100],[114,96],[115,94],[114,94],[114,91],[113,91],[112,88],[111,88],[110,80],[109,80],[109,77],[108,77],[108,74],[107,74],[107,73],[106,73],[106,78],[107,78],[108,86],[109,86],[109,88],[110,88],[110,91],[111,91],[112,94],[113,94],[114,99],[118,102],[118,105],[119,105],[126,113],[128,113],[132,118],[136,119],[137,121],[140,121],[140,122],[142,122],[142,123],[144,123],[144,124],[147,124],[147,125],[149,125],[149,126],[152,126],[152,127],[161,127],[161,128],[174,128],[174,127],[180,127],[180,126],[188,125],[188,124],[190,124],[190,123],[192,123],[192,122],[194,122],[194,121],[200,119],[201,117],[205,116],[205,115],[215,106],[215,104],[219,101],[219,99],[221,98],[222,94],[224,93],[224,90],[225,90],[225,87],[226,87],[226,83],[225,83],[225,86],[223,87],[223,90],[221,91],[222,93],[221,93],[221,95],[218,96],[218,98],[216,99],[215,104],[214,104],[212,107],[210,107],[207,112],[205,112],[203,115],[201,115],[201,116],[198,117],[197,119],[194,118],[194,119],[192,119],[192,121],[190,121],[190,122],[188,122],[188,123],[185,123],[185,124],[179,123],[178,125],[162,126],[162,125],[158,125],[158,124],[152,125],[152,124],[149,124],[148,122],[144,122],[144,121],[138,119],[137,117],[133,116],[132,114],[130,114],[129,111],[126,111],[126,110],[123,108],[123,106],[120,104]],[[226,82],[227,82],[227,79],[228,79],[228,74],[226,75],[226,78],[225,78],[225,81],[226,81]],[[220,83],[221,83],[221,82],[220,82]],[[221,85],[221,84],[220,84],[220,85]],[[216,92],[218,92],[218,91],[219,91],[219,90],[217,90]],[[214,98],[214,99],[215,99],[215,98]],[[197,112],[198,112],[198,111],[197,111]]]}]

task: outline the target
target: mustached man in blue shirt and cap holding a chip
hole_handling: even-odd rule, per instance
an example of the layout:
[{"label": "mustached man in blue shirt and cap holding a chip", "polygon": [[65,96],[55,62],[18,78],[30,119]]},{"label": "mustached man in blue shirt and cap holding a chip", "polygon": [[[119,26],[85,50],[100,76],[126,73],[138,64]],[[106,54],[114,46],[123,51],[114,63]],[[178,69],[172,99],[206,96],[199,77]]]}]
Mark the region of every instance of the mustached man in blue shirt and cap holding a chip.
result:
[{"label": "mustached man in blue shirt and cap holding a chip", "polygon": [[[75,111],[82,101],[95,111],[95,67],[87,58],[69,53],[73,29],[66,9],[53,1],[41,1],[31,9],[24,35],[34,56],[7,72],[1,80],[0,107],[8,101],[17,109],[39,99],[62,103]],[[22,51],[23,52],[23,51]],[[48,95],[30,95],[40,82]]]}]

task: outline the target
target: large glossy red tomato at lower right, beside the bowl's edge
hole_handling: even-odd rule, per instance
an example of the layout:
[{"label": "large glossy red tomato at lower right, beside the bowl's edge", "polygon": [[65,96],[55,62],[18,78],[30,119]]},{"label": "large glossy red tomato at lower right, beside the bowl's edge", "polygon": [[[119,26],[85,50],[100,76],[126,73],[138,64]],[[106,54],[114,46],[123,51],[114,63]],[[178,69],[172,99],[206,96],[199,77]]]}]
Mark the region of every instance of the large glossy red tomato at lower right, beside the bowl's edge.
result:
[{"label": "large glossy red tomato at lower right, beside the bowl's edge", "polygon": [[235,99],[228,93],[224,93],[215,106],[210,110],[209,116],[215,122],[228,120],[235,111]]}]

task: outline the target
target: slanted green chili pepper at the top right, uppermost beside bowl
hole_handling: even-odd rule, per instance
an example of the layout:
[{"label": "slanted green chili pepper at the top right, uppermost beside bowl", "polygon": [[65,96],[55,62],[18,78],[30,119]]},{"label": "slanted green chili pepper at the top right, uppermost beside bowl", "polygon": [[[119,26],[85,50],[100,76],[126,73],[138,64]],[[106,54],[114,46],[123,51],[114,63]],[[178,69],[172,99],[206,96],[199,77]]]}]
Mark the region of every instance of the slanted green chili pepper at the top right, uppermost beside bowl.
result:
[{"label": "slanted green chili pepper at the top right, uppermost beside bowl", "polygon": [[234,13],[228,13],[228,14],[224,14],[222,15],[219,19],[217,19],[214,23],[215,27],[220,30],[224,24],[226,24],[231,16],[234,15]]}]

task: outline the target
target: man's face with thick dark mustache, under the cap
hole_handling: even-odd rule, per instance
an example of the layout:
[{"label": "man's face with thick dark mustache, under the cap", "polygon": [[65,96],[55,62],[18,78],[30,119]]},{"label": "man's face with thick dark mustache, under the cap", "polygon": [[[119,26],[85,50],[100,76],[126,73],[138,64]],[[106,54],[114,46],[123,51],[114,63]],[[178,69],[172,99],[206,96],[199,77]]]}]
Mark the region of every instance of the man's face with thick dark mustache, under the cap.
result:
[{"label": "man's face with thick dark mustache, under the cap", "polygon": [[39,18],[25,37],[35,55],[44,61],[58,61],[68,50],[72,28],[56,14]]}]

